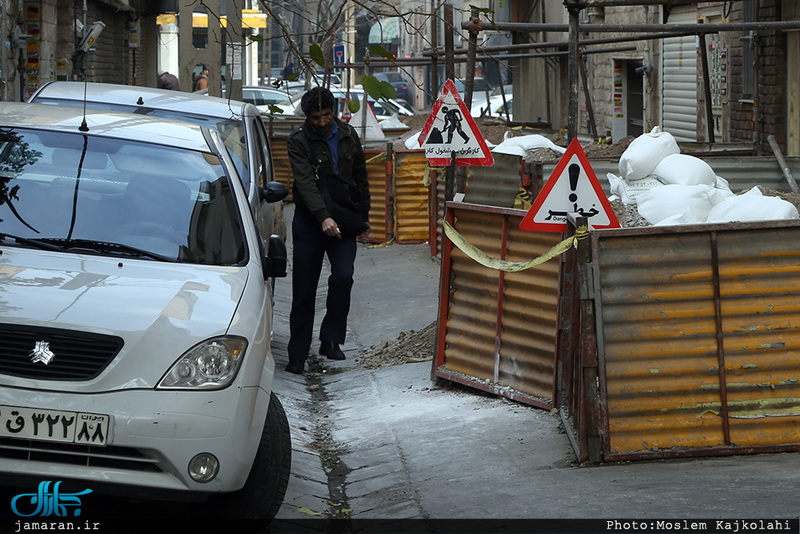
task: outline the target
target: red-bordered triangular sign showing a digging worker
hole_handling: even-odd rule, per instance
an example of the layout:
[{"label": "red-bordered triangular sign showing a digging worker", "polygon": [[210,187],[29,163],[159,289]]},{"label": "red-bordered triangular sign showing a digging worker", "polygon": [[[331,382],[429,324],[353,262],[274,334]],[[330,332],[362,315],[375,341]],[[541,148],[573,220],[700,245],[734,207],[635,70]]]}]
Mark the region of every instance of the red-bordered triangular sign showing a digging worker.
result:
[{"label": "red-bordered triangular sign showing a digging worker", "polygon": [[456,165],[494,165],[494,156],[453,80],[444,83],[419,134],[419,144],[434,167],[450,165],[452,154],[456,155]]}]

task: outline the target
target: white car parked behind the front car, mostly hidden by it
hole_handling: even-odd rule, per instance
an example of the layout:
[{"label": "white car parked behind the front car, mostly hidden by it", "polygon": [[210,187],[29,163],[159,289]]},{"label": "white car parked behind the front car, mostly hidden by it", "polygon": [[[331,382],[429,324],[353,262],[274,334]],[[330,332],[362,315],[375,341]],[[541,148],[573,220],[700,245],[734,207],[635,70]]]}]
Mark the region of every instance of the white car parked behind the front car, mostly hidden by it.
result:
[{"label": "white car parked behind the front car, mostly hidden by it", "polygon": [[261,113],[254,105],[149,87],[83,82],[50,82],[31,102],[118,110],[180,119],[217,130],[236,165],[265,248],[270,236],[286,238],[283,202],[267,203],[259,194],[275,181],[272,153]]}]

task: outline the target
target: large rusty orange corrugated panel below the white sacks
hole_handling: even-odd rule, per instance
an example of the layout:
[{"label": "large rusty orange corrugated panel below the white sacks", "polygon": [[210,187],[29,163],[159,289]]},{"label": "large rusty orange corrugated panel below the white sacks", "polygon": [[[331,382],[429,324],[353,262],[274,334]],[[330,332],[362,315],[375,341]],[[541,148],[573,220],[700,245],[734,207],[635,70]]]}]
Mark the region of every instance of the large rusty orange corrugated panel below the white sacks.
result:
[{"label": "large rusty orange corrugated panel below the white sacks", "polygon": [[593,235],[606,459],[800,443],[798,231]]}]

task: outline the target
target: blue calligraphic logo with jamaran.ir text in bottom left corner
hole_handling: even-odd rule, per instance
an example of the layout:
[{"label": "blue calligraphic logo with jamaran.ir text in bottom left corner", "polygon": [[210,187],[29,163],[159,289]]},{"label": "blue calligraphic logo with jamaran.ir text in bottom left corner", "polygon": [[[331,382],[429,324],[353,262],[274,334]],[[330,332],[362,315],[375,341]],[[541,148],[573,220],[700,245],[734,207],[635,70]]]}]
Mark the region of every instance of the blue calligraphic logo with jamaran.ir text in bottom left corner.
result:
[{"label": "blue calligraphic logo with jamaran.ir text in bottom left corner", "polygon": [[81,515],[81,497],[92,490],[66,493],[60,491],[60,486],[61,481],[53,483],[51,480],[43,480],[36,493],[20,493],[11,499],[11,510],[14,514],[26,518],[18,519],[14,523],[14,532],[100,530],[100,523],[96,521],[65,519],[70,517],[70,511],[72,517]]}]

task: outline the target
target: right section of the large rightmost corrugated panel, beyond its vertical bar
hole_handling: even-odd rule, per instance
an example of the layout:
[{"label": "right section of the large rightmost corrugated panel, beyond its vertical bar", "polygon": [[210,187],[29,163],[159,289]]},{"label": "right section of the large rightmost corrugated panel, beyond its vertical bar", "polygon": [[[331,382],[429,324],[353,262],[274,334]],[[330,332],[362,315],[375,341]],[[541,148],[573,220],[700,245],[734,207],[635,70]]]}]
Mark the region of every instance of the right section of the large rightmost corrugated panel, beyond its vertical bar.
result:
[{"label": "right section of the large rightmost corrugated panel, beyond its vertical bar", "polygon": [[798,227],[717,238],[730,439],[800,443]]}]

